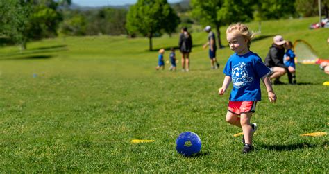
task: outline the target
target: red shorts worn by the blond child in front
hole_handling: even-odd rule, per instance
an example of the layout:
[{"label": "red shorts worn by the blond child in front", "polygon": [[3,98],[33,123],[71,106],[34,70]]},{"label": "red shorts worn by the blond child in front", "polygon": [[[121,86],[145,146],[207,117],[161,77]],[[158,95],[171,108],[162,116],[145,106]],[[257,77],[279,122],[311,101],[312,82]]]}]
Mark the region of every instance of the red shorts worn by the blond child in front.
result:
[{"label": "red shorts worn by the blond child in front", "polygon": [[256,103],[257,101],[230,101],[228,103],[228,111],[237,115],[255,112]]}]

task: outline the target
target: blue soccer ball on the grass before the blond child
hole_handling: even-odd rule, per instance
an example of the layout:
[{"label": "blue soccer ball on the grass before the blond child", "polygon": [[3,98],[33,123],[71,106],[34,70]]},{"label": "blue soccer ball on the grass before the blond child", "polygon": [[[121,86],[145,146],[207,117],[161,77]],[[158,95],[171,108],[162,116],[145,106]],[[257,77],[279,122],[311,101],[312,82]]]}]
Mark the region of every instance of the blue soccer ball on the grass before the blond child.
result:
[{"label": "blue soccer ball on the grass before the blond child", "polygon": [[185,157],[199,153],[201,150],[201,139],[194,132],[183,132],[176,139],[176,150]]}]

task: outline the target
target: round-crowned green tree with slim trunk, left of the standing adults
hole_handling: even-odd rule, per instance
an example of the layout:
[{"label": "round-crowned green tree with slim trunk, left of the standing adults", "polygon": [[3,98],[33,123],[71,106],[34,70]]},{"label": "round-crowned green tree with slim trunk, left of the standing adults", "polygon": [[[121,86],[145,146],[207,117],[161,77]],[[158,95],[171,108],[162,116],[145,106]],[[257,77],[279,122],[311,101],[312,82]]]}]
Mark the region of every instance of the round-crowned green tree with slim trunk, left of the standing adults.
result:
[{"label": "round-crowned green tree with slim trunk, left of the standing adults", "polygon": [[167,0],[138,0],[127,14],[126,29],[130,35],[141,33],[149,37],[151,51],[153,35],[161,33],[162,29],[167,33],[174,31],[178,25],[177,18]]}]

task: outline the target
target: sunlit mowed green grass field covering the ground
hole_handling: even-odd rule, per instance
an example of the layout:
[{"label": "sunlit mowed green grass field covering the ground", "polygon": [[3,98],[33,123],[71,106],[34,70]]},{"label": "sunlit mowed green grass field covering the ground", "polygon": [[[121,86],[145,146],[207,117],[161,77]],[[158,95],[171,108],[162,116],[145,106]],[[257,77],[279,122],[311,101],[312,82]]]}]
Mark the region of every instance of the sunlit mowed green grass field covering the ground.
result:
[{"label": "sunlit mowed green grass field covering the ground", "polygon": [[[251,50],[264,60],[272,37],[310,42],[329,58],[329,29],[311,31],[317,18],[262,22]],[[249,24],[258,31],[258,23]],[[226,27],[221,28],[225,33]],[[3,172],[310,172],[328,173],[329,76],[317,64],[297,64],[298,85],[274,85],[269,103],[262,85],[252,122],[255,152],[243,155],[239,128],[225,121],[228,96],[217,95],[233,52],[217,51],[210,70],[206,33],[192,33],[191,71],[155,71],[157,51],[146,38],[66,37],[0,49],[0,170]],[[225,35],[221,35],[223,43]],[[178,34],[153,47],[178,44]],[[180,53],[176,51],[180,61]],[[165,53],[168,60],[169,51]],[[179,65],[180,63],[178,63]],[[281,80],[287,83],[287,77]],[[231,86],[230,86],[231,89]],[[201,154],[182,157],[176,138],[192,131]],[[153,143],[130,143],[151,139]]]}]

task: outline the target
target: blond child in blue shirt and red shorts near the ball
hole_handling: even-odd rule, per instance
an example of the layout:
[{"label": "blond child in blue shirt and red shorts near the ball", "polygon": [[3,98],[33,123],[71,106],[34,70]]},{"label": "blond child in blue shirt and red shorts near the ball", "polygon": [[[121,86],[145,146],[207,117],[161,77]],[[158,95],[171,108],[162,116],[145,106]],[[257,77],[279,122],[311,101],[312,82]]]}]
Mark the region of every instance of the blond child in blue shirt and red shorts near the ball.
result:
[{"label": "blond child in blue shirt and red shorts near the ball", "polygon": [[230,56],[223,73],[226,75],[223,85],[219,88],[219,95],[223,95],[233,82],[230,93],[226,121],[242,128],[244,148],[242,153],[253,150],[253,132],[257,125],[251,123],[251,116],[255,112],[257,101],[261,99],[260,80],[264,83],[271,103],[276,102],[271,80],[267,77],[270,69],[262,59],[249,50],[253,33],[244,24],[232,24],[226,30],[226,39],[230,49],[235,53]]}]

